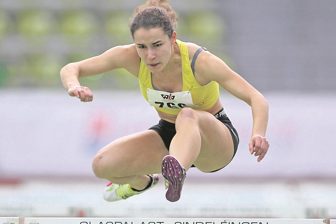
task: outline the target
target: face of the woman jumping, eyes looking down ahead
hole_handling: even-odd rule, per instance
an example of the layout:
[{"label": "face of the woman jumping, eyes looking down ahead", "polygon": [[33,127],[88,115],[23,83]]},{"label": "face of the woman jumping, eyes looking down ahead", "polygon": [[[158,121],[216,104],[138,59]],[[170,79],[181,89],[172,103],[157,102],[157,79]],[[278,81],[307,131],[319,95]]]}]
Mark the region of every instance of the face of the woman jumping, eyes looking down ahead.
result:
[{"label": "face of the woman jumping, eyes looking down ahead", "polygon": [[163,28],[139,29],[134,32],[134,43],[141,60],[146,64],[151,73],[161,72],[172,54],[176,32],[171,38]]}]

